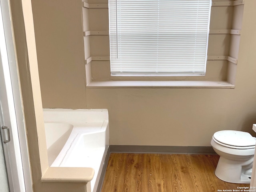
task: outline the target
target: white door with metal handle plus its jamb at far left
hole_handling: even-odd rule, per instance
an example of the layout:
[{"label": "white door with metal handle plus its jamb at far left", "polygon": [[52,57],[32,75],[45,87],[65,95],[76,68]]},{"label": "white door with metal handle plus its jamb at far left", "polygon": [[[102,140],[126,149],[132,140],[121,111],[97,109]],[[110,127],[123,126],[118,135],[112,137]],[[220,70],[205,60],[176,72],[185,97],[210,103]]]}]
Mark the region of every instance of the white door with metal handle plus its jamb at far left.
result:
[{"label": "white door with metal handle plus its jamb at far left", "polygon": [[[9,184],[10,192],[32,192],[14,50],[9,1],[0,0],[0,178],[5,178],[3,187],[7,188]],[[0,181],[0,192],[5,192],[6,189],[2,190],[1,187]]]}]

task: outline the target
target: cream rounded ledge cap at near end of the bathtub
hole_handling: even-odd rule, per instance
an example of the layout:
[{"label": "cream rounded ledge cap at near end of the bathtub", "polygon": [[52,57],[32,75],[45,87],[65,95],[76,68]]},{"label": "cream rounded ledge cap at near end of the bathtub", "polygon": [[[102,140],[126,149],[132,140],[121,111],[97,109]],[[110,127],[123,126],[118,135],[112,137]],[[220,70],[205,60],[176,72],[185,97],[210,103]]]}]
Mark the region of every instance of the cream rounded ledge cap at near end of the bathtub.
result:
[{"label": "cream rounded ledge cap at near end of the bathtub", "polygon": [[90,182],[94,169],[87,167],[49,167],[42,182]]}]

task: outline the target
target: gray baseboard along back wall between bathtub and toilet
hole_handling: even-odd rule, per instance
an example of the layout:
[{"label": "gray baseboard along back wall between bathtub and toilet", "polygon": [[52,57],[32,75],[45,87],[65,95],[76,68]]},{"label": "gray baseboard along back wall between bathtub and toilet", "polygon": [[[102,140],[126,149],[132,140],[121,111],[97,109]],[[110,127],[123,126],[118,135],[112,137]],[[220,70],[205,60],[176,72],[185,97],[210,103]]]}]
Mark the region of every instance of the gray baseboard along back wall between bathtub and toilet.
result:
[{"label": "gray baseboard along back wall between bathtub and toilet", "polygon": [[212,146],[110,145],[110,153],[216,154]]}]

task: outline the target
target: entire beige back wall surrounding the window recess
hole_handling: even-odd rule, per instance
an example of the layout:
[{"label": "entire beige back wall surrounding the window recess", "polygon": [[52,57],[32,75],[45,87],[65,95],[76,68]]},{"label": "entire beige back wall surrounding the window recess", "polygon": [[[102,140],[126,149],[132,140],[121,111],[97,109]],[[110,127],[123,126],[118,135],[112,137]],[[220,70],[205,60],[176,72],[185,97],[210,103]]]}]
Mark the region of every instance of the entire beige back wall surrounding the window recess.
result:
[{"label": "entire beige back wall surrounding the window recess", "polygon": [[210,146],[225,129],[256,136],[255,1],[244,6],[235,89],[85,88],[81,1],[32,6],[44,108],[107,108],[111,145]]}]

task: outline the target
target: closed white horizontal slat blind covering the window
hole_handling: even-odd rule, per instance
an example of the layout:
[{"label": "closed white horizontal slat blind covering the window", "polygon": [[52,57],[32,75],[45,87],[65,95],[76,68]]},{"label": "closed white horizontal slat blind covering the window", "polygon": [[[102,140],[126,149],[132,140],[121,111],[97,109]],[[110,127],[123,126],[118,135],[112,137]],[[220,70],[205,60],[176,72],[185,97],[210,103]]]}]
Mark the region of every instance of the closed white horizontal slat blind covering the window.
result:
[{"label": "closed white horizontal slat blind covering the window", "polygon": [[112,74],[205,74],[211,0],[109,0]]}]

